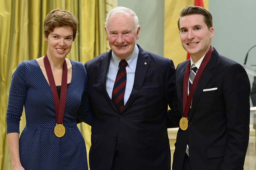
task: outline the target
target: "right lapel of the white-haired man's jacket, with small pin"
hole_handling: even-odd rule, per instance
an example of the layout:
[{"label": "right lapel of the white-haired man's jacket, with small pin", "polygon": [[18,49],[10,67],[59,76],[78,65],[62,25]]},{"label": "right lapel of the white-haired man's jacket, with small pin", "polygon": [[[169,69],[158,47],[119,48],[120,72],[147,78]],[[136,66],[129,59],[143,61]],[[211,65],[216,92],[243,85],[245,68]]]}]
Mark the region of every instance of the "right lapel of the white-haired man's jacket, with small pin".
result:
[{"label": "right lapel of the white-haired man's jacket, with small pin", "polygon": [[142,85],[144,83],[148,67],[150,65],[150,58],[149,55],[139,46],[139,55],[138,55],[138,60],[137,60],[137,65],[136,65],[136,71],[135,71],[135,77],[134,77],[134,84],[132,88],[132,92],[130,94],[130,97],[128,101],[126,102],[123,110],[121,113],[129,107],[129,105],[133,102],[135,97],[138,95],[140,92]]}]

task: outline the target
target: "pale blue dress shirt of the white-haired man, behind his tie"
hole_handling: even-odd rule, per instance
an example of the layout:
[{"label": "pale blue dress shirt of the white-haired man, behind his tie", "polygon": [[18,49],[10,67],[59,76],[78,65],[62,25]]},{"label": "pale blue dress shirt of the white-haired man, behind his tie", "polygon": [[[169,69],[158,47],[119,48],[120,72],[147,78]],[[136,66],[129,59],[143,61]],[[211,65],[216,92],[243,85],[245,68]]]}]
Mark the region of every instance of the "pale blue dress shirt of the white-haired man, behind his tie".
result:
[{"label": "pale blue dress shirt of the white-haired man, behind his tie", "polygon": [[[125,93],[124,93],[124,104],[126,104],[128,98],[130,97],[130,94],[132,92],[132,87],[134,83],[134,77],[135,77],[135,70],[137,65],[139,55],[139,48],[135,44],[135,48],[132,52],[132,54],[125,59],[125,61],[128,63],[126,66],[126,86],[125,86]],[[110,64],[108,68],[107,78],[106,78],[106,90],[108,92],[108,95],[110,98],[112,98],[112,91],[116,80],[116,75],[118,72],[118,66],[121,59],[118,58],[112,51],[112,56],[110,59]]]}]

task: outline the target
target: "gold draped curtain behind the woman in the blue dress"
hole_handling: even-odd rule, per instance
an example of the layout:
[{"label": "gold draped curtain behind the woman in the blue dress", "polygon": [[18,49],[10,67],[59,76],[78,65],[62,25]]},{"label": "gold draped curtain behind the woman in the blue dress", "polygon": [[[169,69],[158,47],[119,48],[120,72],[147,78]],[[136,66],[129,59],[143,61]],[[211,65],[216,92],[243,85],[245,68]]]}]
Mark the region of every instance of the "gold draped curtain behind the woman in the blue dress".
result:
[{"label": "gold draped curtain behind the woman in the blue dress", "polygon": [[[0,169],[11,170],[5,120],[11,76],[20,62],[46,54],[44,18],[56,8],[66,9],[78,17],[79,36],[67,58],[84,64],[108,51],[104,30],[106,6],[116,7],[117,0],[0,0],[0,4]],[[20,131],[26,124],[24,115],[23,112]],[[88,156],[91,128],[85,123],[78,127],[84,136]]]}]

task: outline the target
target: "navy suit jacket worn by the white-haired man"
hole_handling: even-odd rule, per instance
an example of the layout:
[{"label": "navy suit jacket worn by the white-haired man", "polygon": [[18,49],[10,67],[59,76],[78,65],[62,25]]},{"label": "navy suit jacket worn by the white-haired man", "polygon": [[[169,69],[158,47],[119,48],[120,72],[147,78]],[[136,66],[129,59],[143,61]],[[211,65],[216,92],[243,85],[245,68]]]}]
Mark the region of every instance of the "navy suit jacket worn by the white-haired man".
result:
[{"label": "navy suit jacket worn by the white-haired man", "polygon": [[106,91],[111,50],[85,63],[94,111],[91,170],[110,170],[117,136],[122,170],[170,170],[166,117],[175,90],[175,68],[170,59],[137,46],[134,85],[121,113]]}]

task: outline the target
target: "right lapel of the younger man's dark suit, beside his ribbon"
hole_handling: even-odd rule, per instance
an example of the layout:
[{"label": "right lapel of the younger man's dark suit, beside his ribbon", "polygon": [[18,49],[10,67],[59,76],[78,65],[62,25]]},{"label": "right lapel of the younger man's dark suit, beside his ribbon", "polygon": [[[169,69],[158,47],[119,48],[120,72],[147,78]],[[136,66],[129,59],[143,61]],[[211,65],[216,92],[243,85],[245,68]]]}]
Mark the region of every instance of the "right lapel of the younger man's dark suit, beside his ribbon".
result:
[{"label": "right lapel of the younger man's dark suit, beside his ribbon", "polygon": [[198,81],[195,92],[193,94],[190,117],[192,116],[192,114],[195,111],[195,108],[196,108],[199,98],[203,92],[203,89],[205,88],[205,86],[209,83],[209,81],[213,77],[211,70],[215,68],[215,64],[216,64],[218,56],[219,56],[219,54],[214,49],[212,52],[211,59],[207,63],[206,67],[204,68],[204,71],[202,72],[202,75]]}]

